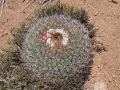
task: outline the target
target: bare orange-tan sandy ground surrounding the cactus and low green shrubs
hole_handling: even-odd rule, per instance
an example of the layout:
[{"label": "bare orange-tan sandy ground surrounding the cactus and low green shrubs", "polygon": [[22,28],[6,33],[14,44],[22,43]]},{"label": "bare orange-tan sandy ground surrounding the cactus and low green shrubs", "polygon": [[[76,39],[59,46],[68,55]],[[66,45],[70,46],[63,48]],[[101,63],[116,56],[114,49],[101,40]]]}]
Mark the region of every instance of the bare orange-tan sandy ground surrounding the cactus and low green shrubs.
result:
[{"label": "bare orange-tan sandy ground surrounding the cactus and low green shrubs", "polygon": [[[38,7],[38,1],[35,1],[19,12],[26,5],[22,1],[24,0],[5,2],[0,18],[0,48],[9,47],[7,41],[11,38],[10,29],[19,26]],[[91,75],[85,83],[85,86],[89,87],[87,90],[120,90],[120,0],[115,0],[118,3],[111,1],[61,0],[70,6],[83,7],[88,12],[90,21],[99,29],[95,40],[103,43],[107,49],[106,52],[94,53]],[[96,89],[96,86],[104,88]]]}]

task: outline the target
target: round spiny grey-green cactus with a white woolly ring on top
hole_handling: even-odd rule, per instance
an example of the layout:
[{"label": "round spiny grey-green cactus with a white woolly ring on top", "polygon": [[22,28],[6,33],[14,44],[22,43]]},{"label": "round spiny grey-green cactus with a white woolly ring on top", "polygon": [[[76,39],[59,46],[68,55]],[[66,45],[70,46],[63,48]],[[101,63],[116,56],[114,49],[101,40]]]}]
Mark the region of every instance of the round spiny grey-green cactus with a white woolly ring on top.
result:
[{"label": "round spiny grey-green cactus with a white woolly ring on top", "polygon": [[29,79],[48,85],[82,84],[90,73],[91,56],[92,39],[85,25],[55,14],[40,18],[28,30],[21,67]]}]

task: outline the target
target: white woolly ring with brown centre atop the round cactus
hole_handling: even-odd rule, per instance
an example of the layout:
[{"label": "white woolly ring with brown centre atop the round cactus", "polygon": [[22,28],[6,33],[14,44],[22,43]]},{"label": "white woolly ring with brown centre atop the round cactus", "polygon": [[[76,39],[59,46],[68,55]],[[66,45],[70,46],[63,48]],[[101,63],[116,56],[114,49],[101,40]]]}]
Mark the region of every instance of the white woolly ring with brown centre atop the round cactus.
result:
[{"label": "white woolly ring with brown centre atop the round cactus", "polygon": [[56,52],[62,51],[68,44],[68,34],[63,29],[47,31],[46,45]]}]

